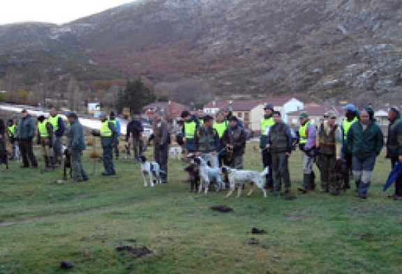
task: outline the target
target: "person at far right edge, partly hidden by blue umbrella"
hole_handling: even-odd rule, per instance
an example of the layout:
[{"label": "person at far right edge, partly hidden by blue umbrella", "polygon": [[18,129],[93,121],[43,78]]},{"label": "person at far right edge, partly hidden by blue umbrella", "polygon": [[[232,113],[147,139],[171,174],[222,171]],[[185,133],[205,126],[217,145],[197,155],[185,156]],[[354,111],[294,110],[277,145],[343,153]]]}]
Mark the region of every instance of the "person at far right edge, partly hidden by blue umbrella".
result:
[{"label": "person at far right edge, partly hidden by blue umbrella", "polygon": [[[397,161],[402,162],[402,120],[398,108],[389,108],[388,120],[387,158],[391,160],[391,166],[393,168]],[[392,199],[402,197],[402,175],[399,175],[395,180],[394,194],[388,197]]]}]

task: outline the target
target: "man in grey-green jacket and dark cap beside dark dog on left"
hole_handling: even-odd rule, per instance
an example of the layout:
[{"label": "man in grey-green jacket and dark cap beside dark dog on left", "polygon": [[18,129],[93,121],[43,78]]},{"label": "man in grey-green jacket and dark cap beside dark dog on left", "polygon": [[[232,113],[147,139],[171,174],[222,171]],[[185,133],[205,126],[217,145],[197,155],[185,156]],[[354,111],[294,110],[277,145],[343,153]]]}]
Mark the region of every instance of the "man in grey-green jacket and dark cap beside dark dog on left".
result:
[{"label": "man in grey-green jacket and dark cap beside dark dog on left", "polygon": [[78,122],[77,114],[67,113],[68,127],[66,131],[67,149],[71,154],[71,168],[73,168],[74,182],[88,180],[87,172],[82,165],[82,151],[85,150],[84,132],[82,125]]}]

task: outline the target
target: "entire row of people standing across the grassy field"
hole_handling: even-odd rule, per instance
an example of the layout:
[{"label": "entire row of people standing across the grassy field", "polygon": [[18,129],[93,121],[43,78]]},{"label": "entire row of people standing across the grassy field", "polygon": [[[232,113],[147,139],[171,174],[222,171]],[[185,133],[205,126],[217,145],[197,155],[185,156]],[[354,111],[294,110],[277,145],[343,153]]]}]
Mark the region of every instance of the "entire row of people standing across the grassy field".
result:
[{"label": "entire row of people standing across the grassy field", "polygon": [[[299,129],[297,136],[292,133],[288,124],[281,119],[281,113],[274,110],[274,106],[265,106],[265,115],[260,127],[260,149],[262,165],[269,168],[266,177],[266,188],[273,193],[281,193],[284,185],[284,194],[290,193],[291,180],[289,173],[289,158],[295,144],[299,143],[302,153],[303,182],[298,191],[307,193],[315,189],[315,173],[313,164],[316,163],[320,171],[320,188],[322,193],[334,196],[340,194],[341,189],[350,189],[350,173],[355,180],[357,197],[366,199],[371,185],[371,175],[375,160],[384,146],[384,137],[378,124],[375,122],[371,108],[357,110],[348,104],[343,107],[344,118],[337,124],[338,115],[335,112],[325,113],[323,121],[315,127],[309,119],[308,113],[299,115]],[[22,156],[22,168],[38,167],[33,152],[33,139],[37,131],[37,140],[40,144],[45,168],[54,169],[61,162],[61,137],[66,135],[66,149],[70,152],[75,182],[88,180],[88,175],[82,165],[82,151],[85,149],[84,131],[75,113],[67,113],[68,126],[64,124],[57,110],[52,108],[49,117],[38,115],[37,124],[34,118],[22,110],[20,120],[9,120],[5,127],[0,121],[0,150],[5,149],[7,133],[10,143],[13,144],[12,159],[15,157],[16,147],[19,147]],[[204,115],[197,117],[187,110],[181,113],[182,132],[177,138],[179,145],[191,154],[202,156],[212,167],[229,166],[243,168],[243,156],[248,134],[241,121],[230,110],[221,110],[216,117]],[[399,109],[389,108],[389,128],[387,136],[387,158],[392,166],[402,161],[402,120]],[[102,175],[115,175],[113,150],[118,157],[119,123],[115,114],[107,117],[101,114],[101,127],[92,131],[92,135],[101,137],[103,148],[103,164],[105,171]],[[168,123],[163,119],[160,110],[154,112],[152,120],[154,133],[149,141],[154,141],[154,159],[161,168],[162,181],[168,182],[168,147],[170,145],[170,131]],[[142,123],[139,117],[133,117],[128,122],[126,145],[130,138],[133,142],[135,159],[143,152]],[[341,163],[343,178],[336,177],[336,163]],[[402,196],[402,176],[395,182],[395,192],[392,198]]]}]

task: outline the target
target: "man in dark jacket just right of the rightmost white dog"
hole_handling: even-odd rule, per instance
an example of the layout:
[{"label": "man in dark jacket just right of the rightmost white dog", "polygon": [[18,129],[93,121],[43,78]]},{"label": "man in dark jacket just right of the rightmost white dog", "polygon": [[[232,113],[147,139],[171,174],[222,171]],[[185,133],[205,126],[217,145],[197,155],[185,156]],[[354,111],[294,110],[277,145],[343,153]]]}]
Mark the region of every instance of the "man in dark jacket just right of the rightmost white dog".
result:
[{"label": "man in dark jacket just right of the rightmost white dog", "polygon": [[267,145],[272,157],[272,176],[274,178],[274,192],[281,192],[282,181],[285,185],[285,194],[290,193],[290,175],[288,161],[292,152],[292,134],[287,124],[282,121],[281,113],[272,113],[275,124],[269,130]]}]

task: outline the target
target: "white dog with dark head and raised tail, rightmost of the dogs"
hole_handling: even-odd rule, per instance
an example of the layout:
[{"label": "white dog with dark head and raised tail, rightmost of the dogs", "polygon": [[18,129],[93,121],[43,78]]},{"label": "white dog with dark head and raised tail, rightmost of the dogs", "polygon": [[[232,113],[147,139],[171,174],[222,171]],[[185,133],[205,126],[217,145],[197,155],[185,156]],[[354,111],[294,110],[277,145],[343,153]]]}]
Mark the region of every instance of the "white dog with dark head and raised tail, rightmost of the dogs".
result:
[{"label": "white dog with dark head and raised tail, rightmost of the dogs", "polygon": [[269,169],[265,168],[261,173],[258,171],[245,171],[242,169],[234,169],[223,167],[223,172],[228,172],[229,185],[230,190],[228,192],[227,197],[233,194],[235,187],[237,186],[237,198],[239,198],[241,194],[241,188],[243,185],[246,185],[248,182],[253,182],[251,185],[250,192],[248,192],[247,196],[251,196],[254,191],[254,185],[257,185],[259,189],[264,193],[264,198],[267,197],[267,191],[264,188],[265,185],[265,176],[269,173]]}]

